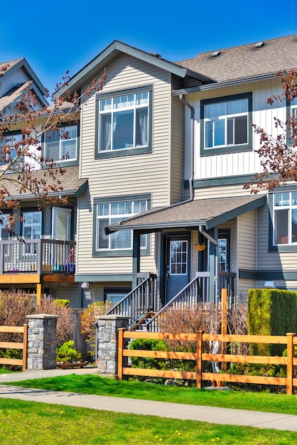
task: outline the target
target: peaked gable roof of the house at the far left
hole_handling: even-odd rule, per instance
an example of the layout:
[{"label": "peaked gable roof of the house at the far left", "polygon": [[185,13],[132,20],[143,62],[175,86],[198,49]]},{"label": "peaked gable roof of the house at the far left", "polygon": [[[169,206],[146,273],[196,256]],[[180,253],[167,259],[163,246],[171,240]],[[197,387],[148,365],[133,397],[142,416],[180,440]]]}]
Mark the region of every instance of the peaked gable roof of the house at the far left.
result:
[{"label": "peaked gable roof of the house at the far left", "polygon": [[[37,75],[32,70],[31,66],[28,64],[27,60],[25,58],[19,58],[16,60],[10,60],[8,62],[1,62],[0,63],[0,69],[6,67],[6,71],[1,71],[0,76],[0,84],[1,79],[13,75],[17,70],[23,70],[23,72],[28,77],[28,81],[24,82],[23,84],[14,85],[9,91],[1,91],[1,99],[2,104],[5,104],[5,107],[7,107],[9,104],[13,103],[14,100],[16,100],[16,90],[19,90],[19,95],[21,95],[21,92],[26,90],[26,87],[30,86],[32,90],[34,90],[34,93],[36,94],[36,97],[38,101],[42,104],[48,104],[48,101],[45,99],[46,96],[46,90],[41,81],[38,79]],[[31,83],[30,83],[31,82]],[[3,106],[1,107],[3,109]]]}]

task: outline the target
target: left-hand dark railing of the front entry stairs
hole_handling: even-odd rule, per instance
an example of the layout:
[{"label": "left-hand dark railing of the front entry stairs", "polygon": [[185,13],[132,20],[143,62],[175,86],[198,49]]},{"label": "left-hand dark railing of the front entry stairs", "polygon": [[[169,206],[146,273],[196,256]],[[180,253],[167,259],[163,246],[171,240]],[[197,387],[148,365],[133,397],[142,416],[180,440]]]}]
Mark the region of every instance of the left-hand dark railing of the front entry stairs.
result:
[{"label": "left-hand dark railing of the front entry stairs", "polygon": [[130,318],[131,328],[144,313],[156,311],[156,274],[139,274],[141,282],[124,296],[119,303],[109,309],[107,315],[121,315]]}]

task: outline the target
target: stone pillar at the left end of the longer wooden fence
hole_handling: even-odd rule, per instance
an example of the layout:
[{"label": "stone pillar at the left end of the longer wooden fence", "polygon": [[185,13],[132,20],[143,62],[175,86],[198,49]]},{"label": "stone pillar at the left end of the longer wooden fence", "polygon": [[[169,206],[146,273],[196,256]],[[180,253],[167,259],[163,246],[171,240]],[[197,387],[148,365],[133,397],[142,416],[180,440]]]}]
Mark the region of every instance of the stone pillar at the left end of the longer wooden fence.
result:
[{"label": "stone pillar at the left end of the longer wooden fence", "polygon": [[129,317],[103,315],[96,325],[98,374],[115,376],[118,364],[118,329],[129,325]]}]

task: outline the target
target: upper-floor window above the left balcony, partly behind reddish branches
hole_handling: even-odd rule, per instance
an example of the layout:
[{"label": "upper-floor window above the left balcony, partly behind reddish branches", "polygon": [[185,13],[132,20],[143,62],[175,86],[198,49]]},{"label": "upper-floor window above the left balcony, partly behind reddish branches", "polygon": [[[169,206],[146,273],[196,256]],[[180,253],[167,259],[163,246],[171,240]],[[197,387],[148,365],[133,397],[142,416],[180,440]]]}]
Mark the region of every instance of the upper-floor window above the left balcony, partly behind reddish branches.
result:
[{"label": "upper-floor window above the left balcony, partly behind reddish branches", "polygon": [[53,161],[76,161],[78,145],[77,125],[45,132],[45,157]]}]

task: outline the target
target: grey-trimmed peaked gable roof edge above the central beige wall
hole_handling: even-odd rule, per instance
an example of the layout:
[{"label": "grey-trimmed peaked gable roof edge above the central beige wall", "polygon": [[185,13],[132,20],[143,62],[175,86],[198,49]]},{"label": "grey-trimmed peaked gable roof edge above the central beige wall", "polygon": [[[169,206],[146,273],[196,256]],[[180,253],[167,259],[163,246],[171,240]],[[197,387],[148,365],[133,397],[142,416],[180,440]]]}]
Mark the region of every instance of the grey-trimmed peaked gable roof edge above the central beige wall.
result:
[{"label": "grey-trimmed peaked gable roof edge above the central beige wall", "polygon": [[150,63],[151,65],[166,70],[178,77],[184,78],[188,76],[193,77],[195,80],[200,80],[200,82],[212,82],[212,79],[209,79],[205,75],[195,73],[190,68],[185,68],[176,63],[169,62],[156,53],[147,53],[146,51],[139,50],[133,46],[126,45],[126,43],[113,41],[102,51],[102,53],[99,53],[99,55],[91,60],[90,63],[85,65],[84,68],[72,76],[71,79],[68,80],[68,85],[59,90],[59,92],[55,92],[53,97],[56,97],[58,94],[63,95],[67,90],[70,90],[70,92],[79,92],[82,85],[86,82],[92,82],[92,80],[98,76],[98,72],[104,70],[109,63],[112,63],[112,61],[121,54],[131,55],[134,58]]}]

